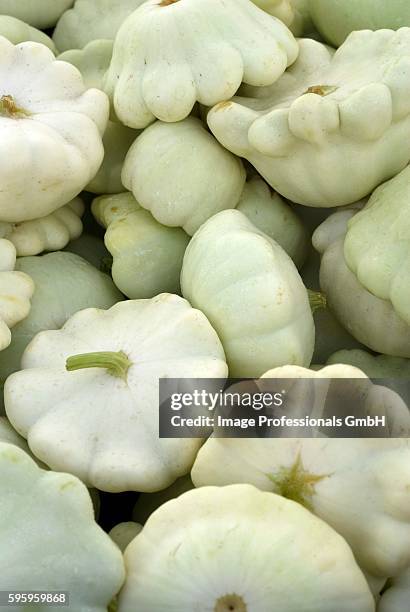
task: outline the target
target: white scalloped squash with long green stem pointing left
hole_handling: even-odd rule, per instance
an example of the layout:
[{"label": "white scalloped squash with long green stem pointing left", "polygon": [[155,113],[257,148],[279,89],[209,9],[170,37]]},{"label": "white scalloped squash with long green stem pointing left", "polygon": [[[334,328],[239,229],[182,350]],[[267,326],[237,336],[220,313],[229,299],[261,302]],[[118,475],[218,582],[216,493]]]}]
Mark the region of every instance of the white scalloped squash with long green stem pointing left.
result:
[{"label": "white scalloped squash with long green stem pointing left", "polygon": [[4,387],[32,452],[87,486],[157,491],[191,469],[199,439],[158,439],[159,378],[223,378],[205,316],[181,297],[88,308],[37,334]]}]

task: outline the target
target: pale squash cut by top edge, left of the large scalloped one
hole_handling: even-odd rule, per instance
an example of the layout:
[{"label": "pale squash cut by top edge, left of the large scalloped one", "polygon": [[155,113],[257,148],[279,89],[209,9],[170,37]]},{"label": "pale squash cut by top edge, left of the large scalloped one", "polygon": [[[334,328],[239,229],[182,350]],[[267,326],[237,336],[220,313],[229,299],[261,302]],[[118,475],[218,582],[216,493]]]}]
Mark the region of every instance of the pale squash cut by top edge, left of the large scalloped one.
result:
[{"label": "pale squash cut by top edge, left of the large scalloped one", "polygon": [[144,0],[76,0],[59,19],[53,34],[57,49],[82,49],[99,38],[114,40],[122,22]]}]

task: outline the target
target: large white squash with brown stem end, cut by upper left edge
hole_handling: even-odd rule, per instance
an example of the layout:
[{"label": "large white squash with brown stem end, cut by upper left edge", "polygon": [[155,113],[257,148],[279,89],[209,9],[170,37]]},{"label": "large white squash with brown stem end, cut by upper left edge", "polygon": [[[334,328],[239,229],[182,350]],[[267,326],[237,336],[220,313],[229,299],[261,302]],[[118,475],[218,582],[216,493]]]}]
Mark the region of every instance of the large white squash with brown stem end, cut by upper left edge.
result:
[{"label": "large white squash with brown stem end, cut by upper left edge", "polygon": [[37,219],[97,173],[108,100],[38,43],[0,37],[0,74],[0,221]]}]

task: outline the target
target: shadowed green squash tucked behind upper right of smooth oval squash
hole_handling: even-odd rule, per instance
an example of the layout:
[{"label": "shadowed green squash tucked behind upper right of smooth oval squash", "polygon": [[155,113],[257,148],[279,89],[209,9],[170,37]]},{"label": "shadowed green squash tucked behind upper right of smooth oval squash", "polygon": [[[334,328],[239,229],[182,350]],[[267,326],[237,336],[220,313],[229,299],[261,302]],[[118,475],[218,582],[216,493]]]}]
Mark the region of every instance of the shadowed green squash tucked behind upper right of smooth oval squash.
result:
[{"label": "shadowed green squash tucked behind upper right of smooth oval squash", "polygon": [[237,210],[276,242],[300,268],[307,256],[310,237],[303,223],[277,193],[259,177],[245,184]]}]

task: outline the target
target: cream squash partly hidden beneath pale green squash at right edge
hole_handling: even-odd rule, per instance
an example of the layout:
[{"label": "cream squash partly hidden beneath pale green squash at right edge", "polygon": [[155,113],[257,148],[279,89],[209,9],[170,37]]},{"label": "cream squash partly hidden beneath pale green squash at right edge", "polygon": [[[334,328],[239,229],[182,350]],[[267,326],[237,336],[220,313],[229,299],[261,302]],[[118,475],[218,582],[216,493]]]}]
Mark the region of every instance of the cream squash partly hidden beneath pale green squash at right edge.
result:
[{"label": "cream squash partly hidden beneath pale green squash at right edge", "polygon": [[389,300],[367,291],[349,270],[344,240],[349,220],[356,210],[331,215],[313,234],[313,245],[322,255],[320,286],[327,305],[356,340],[377,353],[410,357],[410,325]]}]

